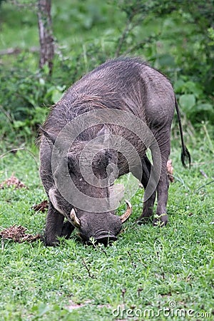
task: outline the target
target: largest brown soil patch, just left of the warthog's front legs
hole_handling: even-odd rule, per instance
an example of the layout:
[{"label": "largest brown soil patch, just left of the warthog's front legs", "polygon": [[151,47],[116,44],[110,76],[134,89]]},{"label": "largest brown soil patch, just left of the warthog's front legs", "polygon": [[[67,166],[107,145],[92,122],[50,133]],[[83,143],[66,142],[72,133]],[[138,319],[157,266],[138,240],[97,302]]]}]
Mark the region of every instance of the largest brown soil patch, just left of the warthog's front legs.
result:
[{"label": "largest brown soil patch, just left of the warthog's front legs", "polygon": [[27,242],[34,242],[35,240],[39,240],[41,238],[41,235],[31,235],[26,233],[26,228],[23,226],[19,225],[13,225],[9,228],[4,228],[0,232],[0,235],[4,239],[11,239],[14,240],[15,242],[22,243],[24,241]]}]

